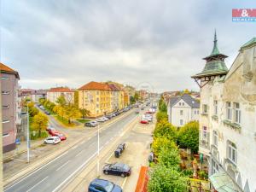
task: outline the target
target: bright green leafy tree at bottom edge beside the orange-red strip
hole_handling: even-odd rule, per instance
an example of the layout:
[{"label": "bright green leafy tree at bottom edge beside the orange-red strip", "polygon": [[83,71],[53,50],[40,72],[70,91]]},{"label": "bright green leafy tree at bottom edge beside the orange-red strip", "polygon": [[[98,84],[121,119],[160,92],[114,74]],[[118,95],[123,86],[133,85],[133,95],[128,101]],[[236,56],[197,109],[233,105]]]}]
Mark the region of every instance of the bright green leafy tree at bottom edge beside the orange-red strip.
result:
[{"label": "bright green leafy tree at bottom edge beside the orange-red strip", "polygon": [[148,192],[184,192],[187,191],[187,178],[181,172],[163,166],[154,166],[149,172]]}]

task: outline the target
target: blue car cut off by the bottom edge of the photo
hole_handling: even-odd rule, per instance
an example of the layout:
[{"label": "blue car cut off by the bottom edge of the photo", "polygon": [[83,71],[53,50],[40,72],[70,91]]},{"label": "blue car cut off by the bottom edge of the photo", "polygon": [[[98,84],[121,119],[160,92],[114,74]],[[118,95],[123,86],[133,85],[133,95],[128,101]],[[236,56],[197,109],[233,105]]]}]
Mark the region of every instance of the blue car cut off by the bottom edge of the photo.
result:
[{"label": "blue car cut off by the bottom edge of the photo", "polygon": [[123,192],[119,185],[105,179],[95,178],[88,187],[89,192]]}]

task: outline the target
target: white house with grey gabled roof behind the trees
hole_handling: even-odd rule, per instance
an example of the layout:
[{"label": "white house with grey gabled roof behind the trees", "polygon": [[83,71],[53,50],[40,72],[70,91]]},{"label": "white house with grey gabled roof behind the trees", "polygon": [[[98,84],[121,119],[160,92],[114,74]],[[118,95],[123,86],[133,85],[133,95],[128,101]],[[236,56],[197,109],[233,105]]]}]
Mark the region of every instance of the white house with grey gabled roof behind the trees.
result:
[{"label": "white house with grey gabled roof behind the trees", "polygon": [[172,96],[167,104],[168,121],[179,127],[189,121],[199,120],[199,108],[199,102],[189,94]]}]

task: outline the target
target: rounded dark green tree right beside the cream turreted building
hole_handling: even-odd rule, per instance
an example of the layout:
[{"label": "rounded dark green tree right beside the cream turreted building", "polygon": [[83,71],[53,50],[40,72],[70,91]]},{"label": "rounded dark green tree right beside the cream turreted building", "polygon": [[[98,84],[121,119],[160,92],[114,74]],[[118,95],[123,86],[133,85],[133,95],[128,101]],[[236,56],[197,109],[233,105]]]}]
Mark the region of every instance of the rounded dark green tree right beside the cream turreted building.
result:
[{"label": "rounded dark green tree right beside the cream turreted building", "polygon": [[190,148],[193,153],[198,152],[199,123],[191,121],[178,132],[178,143],[181,148]]}]

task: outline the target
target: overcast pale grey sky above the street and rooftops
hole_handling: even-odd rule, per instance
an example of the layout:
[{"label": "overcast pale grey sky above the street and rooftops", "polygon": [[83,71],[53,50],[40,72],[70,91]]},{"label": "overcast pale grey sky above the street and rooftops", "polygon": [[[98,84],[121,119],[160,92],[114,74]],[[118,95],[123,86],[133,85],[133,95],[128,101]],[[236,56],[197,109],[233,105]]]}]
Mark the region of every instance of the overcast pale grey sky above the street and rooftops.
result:
[{"label": "overcast pale grey sky above the street and rooftops", "polygon": [[[230,67],[255,22],[232,9],[255,0],[0,0],[0,61],[22,88],[79,88],[117,81],[154,92],[199,90],[190,76],[205,66],[214,29]],[[146,84],[146,85],[145,85]]]}]

